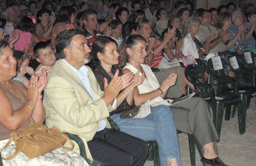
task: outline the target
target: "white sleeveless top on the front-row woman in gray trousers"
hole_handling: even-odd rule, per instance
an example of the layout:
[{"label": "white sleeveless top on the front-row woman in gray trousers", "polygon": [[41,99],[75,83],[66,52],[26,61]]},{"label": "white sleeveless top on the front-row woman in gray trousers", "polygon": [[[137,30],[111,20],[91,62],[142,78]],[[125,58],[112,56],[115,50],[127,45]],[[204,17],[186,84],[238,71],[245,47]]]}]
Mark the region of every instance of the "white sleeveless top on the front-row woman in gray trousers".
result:
[{"label": "white sleeveless top on the front-row woman in gray trousers", "polygon": [[[148,93],[148,92],[152,92],[153,90],[157,89],[158,87],[160,87],[160,84],[158,83],[157,77],[155,77],[155,74],[152,72],[151,68],[149,67],[149,65],[146,64],[140,64],[145,72],[145,75],[147,77],[147,79],[145,78],[143,83],[140,84],[138,87],[139,89],[139,93],[143,94],[143,93]],[[137,68],[133,67],[133,65],[126,63],[124,69],[128,69],[130,71],[132,71],[134,74],[137,73]],[[142,76],[142,73],[139,73],[139,76]],[[161,96],[157,96],[157,98],[152,99],[150,101],[150,105],[155,105],[157,102],[161,102],[164,99]],[[157,104],[158,105],[158,104]]]}]

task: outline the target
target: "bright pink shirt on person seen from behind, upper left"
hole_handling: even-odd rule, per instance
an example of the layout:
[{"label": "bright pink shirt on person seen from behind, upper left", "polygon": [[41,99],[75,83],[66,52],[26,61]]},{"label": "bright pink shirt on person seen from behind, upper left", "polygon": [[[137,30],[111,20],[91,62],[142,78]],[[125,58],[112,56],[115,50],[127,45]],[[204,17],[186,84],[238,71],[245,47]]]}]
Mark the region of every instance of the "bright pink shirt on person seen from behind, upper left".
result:
[{"label": "bright pink shirt on person seen from behind, upper left", "polygon": [[23,52],[25,49],[30,48],[32,34],[30,32],[23,32],[19,29],[15,29],[12,33],[19,33],[19,40],[14,43],[14,49]]}]

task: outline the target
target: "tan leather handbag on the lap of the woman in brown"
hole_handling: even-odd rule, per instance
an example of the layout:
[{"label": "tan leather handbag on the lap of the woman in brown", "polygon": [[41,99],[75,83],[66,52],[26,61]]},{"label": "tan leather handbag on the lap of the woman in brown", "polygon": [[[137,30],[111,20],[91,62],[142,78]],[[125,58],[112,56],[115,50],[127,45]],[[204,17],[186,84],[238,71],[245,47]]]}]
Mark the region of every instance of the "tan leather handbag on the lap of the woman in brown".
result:
[{"label": "tan leather handbag on the lap of the woman in brown", "polygon": [[[23,152],[28,158],[32,159],[47,152],[51,152],[58,147],[72,150],[75,146],[67,135],[60,132],[60,128],[57,126],[47,128],[47,126],[42,123],[30,124],[25,128],[13,131],[10,140],[5,144],[4,149],[11,143],[11,141],[14,141],[16,144],[16,152],[10,157],[2,159],[12,159],[18,152]],[[72,147],[64,147],[63,145],[66,141],[68,141]]]}]

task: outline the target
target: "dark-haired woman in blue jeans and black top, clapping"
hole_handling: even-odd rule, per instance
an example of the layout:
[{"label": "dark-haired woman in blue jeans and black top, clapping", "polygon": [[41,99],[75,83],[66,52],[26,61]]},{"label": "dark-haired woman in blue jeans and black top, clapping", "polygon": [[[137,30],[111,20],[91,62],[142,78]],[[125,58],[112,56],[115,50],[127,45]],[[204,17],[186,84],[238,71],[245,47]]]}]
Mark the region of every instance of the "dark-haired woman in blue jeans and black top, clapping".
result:
[{"label": "dark-haired woman in blue jeans and black top, clapping", "polygon": [[[97,38],[92,44],[91,55],[95,64],[93,72],[101,89],[104,90],[104,84],[110,83],[116,73],[113,65],[119,64],[117,44],[108,37]],[[133,105],[134,88],[145,79],[145,75],[138,76],[138,74],[134,75],[133,84],[123,89],[117,96],[117,105],[119,107],[110,113],[110,117],[119,125],[120,130],[127,134],[145,141],[157,140],[162,166],[181,165],[176,126],[169,107],[166,105],[151,107],[151,113],[142,119],[121,119],[119,117],[122,111]],[[122,71],[119,72],[120,75],[122,75]],[[169,80],[169,83],[163,83],[164,88],[175,84],[176,75],[174,74],[173,78]]]}]

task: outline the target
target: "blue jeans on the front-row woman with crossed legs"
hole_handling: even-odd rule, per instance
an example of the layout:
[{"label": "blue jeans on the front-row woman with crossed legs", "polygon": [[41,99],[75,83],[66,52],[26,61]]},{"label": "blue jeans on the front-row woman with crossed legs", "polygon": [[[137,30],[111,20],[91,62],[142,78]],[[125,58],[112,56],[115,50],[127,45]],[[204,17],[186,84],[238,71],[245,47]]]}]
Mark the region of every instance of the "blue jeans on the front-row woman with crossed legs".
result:
[{"label": "blue jeans on the front-row woman with crossed legs", "polygon": [[167,165],[166,160],[172,158],[177,158],[181,165],[176,126],[170,107],[151,107],[151,113],[143,119],[121,119],[119,116],[120,114],[113,114],[110,117],[122,132],[145,141],[157,140],[161,166]]}]

